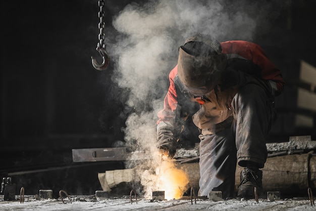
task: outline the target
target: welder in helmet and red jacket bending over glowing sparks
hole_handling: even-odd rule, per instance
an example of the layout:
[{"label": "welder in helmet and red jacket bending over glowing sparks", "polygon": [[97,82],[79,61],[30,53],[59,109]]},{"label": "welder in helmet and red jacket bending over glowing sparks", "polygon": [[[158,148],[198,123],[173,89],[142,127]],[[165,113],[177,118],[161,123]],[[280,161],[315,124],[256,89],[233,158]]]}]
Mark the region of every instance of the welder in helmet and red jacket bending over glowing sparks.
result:
[{"label": "welder in helmet and red jacket bending over glowing sparks", "polygon": [[[257,44],[243,40],[219,43],[196,34],[179,47],[178,64],[169,74],[164,108],[157,115],[157,147],[176,153],[178,99],[199,104],[192,120],[199,131],[200,196],[222,191],[235,198],[236,163],[240,173],[238,198],[263,197],[262,171],[267,160],[267,136],[276,119],[275,96],[284,89],[281,71]],[[239,174],[239,173],[238,173]]]}]

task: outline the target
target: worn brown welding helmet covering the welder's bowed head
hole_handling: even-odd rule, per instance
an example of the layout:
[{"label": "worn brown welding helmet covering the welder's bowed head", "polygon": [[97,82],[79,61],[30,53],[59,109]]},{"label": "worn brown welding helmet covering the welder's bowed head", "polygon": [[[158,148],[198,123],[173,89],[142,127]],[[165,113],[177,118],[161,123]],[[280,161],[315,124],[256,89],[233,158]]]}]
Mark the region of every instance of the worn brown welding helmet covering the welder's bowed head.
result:
[{"label": "worn brown welding helmet covering the welder's bowed head", "polygon": [[178,76],[193,95],[205,95],[217,86],[227,61],[221,51],[220,43],[205,35],[191,36],[180,46]]}]

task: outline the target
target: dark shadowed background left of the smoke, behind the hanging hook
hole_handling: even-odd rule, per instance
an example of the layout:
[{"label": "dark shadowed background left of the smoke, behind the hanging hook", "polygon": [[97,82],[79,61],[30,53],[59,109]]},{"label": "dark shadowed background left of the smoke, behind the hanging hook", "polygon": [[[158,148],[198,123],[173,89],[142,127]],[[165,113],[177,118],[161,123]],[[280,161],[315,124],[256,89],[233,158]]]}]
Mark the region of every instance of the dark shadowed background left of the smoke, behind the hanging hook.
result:
[{"label": "dark shadowed background left of the smoke, behind the hanging hook", "polygon": [[[125,4],[112,1],[106,27]],[[100,190],[98,172],[124,167],[72,162],[71,149],[111,147],[124,136],[112,66],[91,64],[100,58],[97,12],[97,1],[1,3],[0,175],[25,194],[91,194]]]}]

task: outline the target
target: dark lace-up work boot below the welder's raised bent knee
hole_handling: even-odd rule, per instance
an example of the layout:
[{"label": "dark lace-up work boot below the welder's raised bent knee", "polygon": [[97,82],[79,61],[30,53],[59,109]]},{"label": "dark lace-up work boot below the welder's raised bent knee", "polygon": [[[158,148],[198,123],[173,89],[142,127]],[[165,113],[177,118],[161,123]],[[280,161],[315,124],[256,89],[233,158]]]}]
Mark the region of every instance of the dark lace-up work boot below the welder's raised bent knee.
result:
[{"label": "dark lace-up work boot below the welder's raised bent knee", "polygon": [[252,199],[254,188],[257,188],[258,198],[263,197],[262,171],[258,168],[245,167],[240,173],[240,185],[238,187],[238,198]]}]

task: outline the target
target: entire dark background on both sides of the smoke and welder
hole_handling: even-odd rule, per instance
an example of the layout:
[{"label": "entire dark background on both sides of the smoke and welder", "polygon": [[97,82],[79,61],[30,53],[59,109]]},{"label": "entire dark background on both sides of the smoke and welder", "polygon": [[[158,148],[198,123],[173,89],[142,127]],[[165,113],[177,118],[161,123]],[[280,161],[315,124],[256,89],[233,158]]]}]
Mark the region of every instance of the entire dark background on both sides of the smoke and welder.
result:
[{"label": "entire dark background on both sides of the smoke and welder", "polygon": [[[106,3],[109,39],[118,34],[113,17],[130,3]],[[315,123],[312,128],[294,124],[298,112],[307,112],[315,122],[313,112],[297,108],[294,86],[300,60],[316,66],[315,9],[312,0],[293,0],[270,17],[268,30],[255,36],[287,81],[277,99],[279,119],[269,141],[297,135],[316,139]],[[121,162],[72,162],[71,149],[124,141],[127,116],[117,99],[126,91],[111,81],[113,63],[105,71],[91,65],[90,56],[99,57],[97,12],[97,1],[1,3],[0,176],[11,175],[26,194],[44,188],[93,194],[100,189],[98,172],[124,168]]]}]

